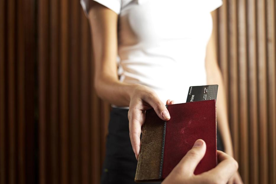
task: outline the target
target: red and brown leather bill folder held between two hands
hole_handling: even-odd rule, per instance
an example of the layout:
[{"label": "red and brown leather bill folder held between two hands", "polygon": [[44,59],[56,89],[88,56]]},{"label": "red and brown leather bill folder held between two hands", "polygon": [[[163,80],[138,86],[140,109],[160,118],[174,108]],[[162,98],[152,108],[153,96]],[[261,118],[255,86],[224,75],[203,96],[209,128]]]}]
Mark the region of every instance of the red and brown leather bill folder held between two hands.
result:
[{"label": "red and brown leather bill folder held between two hands", "polygon": [[194,174],[217,165],[215,100],[167,105],[170,120],[161,120],[154,109],[146,111],[135,181],[161,181],[193,147],[197,139],[206,143],[206,153]]}]

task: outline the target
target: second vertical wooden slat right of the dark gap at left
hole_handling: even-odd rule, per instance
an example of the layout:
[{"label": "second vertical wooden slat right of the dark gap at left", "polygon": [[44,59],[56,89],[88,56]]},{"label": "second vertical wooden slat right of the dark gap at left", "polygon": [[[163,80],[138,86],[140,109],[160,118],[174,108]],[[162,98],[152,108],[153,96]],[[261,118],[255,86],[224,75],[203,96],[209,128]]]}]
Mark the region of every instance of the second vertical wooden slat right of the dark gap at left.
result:
[{"label": "second vertical wooden slat right of the dark gap at left", "polygon": [[51,0],[51,12],[50,12],[50,34],[51,34],[51,46],[50,46],[50,152],[51,152],[51,183],[60,183],[60,170],[59,170],[59,1]]}]

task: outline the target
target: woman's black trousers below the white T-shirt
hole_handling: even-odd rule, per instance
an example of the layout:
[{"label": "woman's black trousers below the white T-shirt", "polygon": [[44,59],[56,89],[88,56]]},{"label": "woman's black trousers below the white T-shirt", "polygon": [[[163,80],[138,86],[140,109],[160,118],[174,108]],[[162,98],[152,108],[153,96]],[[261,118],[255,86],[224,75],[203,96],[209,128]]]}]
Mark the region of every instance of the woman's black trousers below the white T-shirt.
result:
[{"label": "woman's black trousers below the white T-shirt", "polygon": [[[106,156],[101,175],[102,184],[135,183],[137,160],[130,143],[127,112],[128,109],[119,108],[112,108],[110,112]],[[217,142],[218,149],[222,150],[220,136]]]}]

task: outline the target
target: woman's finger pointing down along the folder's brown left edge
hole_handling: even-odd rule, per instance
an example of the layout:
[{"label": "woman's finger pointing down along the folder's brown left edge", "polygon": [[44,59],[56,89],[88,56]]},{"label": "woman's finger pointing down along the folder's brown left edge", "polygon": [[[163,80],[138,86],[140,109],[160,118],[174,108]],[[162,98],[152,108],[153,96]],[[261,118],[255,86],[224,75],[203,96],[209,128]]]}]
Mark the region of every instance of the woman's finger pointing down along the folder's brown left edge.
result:
[{"label": "woman's finger pointing down along the folder's brown left edge", "polygon": [[131,142],[135,157],[136,159],[138,159],[138,155],[140,151],[141,127],[145,122],[145,114],[140,109],[131,108],[128,111],[128,120],[129,120],[130,142]]}]

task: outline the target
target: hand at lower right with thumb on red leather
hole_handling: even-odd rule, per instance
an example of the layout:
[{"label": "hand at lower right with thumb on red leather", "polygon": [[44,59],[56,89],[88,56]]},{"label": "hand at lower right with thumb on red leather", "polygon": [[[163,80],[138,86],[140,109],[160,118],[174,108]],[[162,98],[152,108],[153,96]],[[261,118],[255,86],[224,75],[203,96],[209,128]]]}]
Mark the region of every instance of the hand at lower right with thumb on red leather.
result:
[{"label": "hand at lower right with thumb on red leather", "polygon": [[190,184],[225,184],[237,172],[238,163],[233,157],[222,151],[217,151],[219,164],[217,167],[194,175],[194,170],[206,151],[206,144],[198,139],[193,148],[181,159],[172,172],[163,181],[163,184],[190,183]]}]

